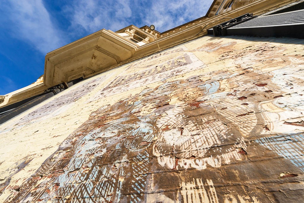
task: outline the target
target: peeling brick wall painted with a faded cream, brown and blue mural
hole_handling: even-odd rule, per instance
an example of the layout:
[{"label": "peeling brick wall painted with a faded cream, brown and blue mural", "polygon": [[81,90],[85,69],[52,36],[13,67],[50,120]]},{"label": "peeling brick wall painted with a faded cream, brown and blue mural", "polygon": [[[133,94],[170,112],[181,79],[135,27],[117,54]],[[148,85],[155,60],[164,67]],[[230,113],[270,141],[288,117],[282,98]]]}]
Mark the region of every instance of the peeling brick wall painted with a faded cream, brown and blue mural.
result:
[{"label": "peeling brick wall painted with a faded cream, brown and blue mural", "polygon": [[303,201],[301,43],[206,36],[72,86],[0,126],[0,201]]}]

